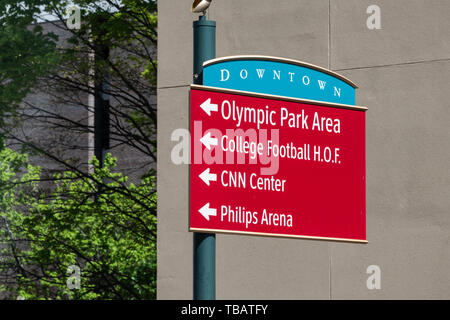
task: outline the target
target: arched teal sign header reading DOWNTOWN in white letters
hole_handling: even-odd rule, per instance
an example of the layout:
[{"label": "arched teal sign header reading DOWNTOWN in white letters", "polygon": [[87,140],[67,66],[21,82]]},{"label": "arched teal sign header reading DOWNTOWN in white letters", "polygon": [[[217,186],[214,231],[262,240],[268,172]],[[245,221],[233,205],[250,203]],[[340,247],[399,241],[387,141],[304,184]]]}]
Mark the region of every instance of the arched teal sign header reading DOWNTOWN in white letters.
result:
[{"label": "arched teal sign header reading DOWNTOWN in white letters", "polygon": [[355,105],[356,85],[308,63],[266,56],[233,56],[203,64],[205,86]]}]

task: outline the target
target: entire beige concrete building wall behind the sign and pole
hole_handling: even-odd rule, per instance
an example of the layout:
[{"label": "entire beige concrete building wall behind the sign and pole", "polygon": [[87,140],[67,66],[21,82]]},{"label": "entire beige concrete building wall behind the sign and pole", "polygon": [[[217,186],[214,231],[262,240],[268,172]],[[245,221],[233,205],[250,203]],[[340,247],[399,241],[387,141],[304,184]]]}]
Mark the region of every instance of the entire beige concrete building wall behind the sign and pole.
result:
[{"label": "entire beige concrete building wall behind the sign and pole", "polygon": [[[190,0],[160,0],[158,298],[192,299],[188,166]],[[381,29],[366,24],[370,5]],[[217,57],[279,56],[336,71],[366,113],[368,244],[217,235],[217,299],[450,298],[450,1],[213,1]],[[366,285],[370,265],[381,289]]]}]

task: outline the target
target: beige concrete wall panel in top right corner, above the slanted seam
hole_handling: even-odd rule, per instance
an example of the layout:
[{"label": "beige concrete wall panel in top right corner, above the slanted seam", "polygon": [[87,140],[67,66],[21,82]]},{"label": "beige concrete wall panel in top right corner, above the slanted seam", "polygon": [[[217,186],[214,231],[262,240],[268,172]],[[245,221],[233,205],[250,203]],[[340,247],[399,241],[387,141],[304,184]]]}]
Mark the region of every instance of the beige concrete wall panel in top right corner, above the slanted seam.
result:
[{"label": "beige concrete wall panel in top right corner, above the slanted seam", "polygon": [[[450,1],[330,0],[333,70],[450,58]],[[381,29],[367,28],[378,5]]]}]

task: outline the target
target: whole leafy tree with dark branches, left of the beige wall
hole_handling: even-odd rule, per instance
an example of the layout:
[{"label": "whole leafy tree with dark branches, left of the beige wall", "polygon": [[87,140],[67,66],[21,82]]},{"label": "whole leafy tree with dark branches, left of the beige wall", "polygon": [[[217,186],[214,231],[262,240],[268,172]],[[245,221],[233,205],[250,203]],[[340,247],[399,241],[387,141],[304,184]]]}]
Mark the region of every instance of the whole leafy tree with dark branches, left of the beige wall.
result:
[{"label": "whole leafy tree with dark branches, left of the beige wall", "polygon": [[[64,23],[69,3],[81,8],[79,30]],[[156,25],[153,0],[0,0],[0,138],[60,168],[48,173],[25,154],[0,151],[0,291],[9,297],[155,298],[156,189],[148,168],[156,161]],[[87,96],[103,94],[111,151],[147,159],[137,181],[111,156],[102,165],[94,158],[90,170],[74,157],[86,154],[77,137],[94,133]],[[80,289],[67,286],[71,265],[81,270]]]}]

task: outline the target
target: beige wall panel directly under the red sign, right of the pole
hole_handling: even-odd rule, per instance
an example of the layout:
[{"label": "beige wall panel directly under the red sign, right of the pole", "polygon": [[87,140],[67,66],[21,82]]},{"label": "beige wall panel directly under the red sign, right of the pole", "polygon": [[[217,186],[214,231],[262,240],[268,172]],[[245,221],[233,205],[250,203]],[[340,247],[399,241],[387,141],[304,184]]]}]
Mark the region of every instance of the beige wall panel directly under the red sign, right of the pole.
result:
[{"label": "beige wall panel directly under the red sign, right of the pole", "polygon": [[328,299],[325,242],[218,235],[217,299]]}]

